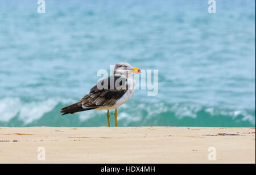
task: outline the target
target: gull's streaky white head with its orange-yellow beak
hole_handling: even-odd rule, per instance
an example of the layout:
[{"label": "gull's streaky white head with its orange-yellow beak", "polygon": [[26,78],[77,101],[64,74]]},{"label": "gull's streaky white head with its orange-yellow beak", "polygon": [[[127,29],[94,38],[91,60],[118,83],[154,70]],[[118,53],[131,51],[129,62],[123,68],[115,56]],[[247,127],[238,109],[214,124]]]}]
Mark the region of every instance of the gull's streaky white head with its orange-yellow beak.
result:
[{"label": "gull's streaky white head with its orange-yellow beak", "polygon": [[127,74],[133,72],[134,74],[141,74],[141,70],[136,67],[131,67],[129,63],[117,63],[114,66],[114,74]]}]

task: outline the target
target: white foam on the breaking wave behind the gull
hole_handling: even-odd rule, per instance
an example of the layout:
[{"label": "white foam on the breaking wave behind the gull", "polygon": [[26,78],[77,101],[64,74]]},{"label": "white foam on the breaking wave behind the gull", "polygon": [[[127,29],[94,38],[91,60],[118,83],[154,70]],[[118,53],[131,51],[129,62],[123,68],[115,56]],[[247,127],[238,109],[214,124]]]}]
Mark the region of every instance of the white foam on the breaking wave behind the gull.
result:
[{"label": "white foam on the breaking wave behind the gull", "polygon": [[[25,102],[20,100],[18,97],[5,97],[0,99],[0,122],[9,122],[11,119],[16,117],[23,122],[22,126],[26,126],[37,121],[45,114],[52,112],[58,104],[65,106],[75,102],[76,100],[60,98]],[[118,109],[118,121],[122,122],[125,126],[129,126],[132,122],[148,125],[147,121],[149,119],[158,123],[158,121],[161,120],[159,116],[164,115],[164,117],[176,117],[178,119],[183,119],[184,117],[196,118],[198,117],[197,115],[199,112],[208,113],[209,116],[213,117],[231,117],[235,122],[249,121],[255,125],[254,112],[247,112],[246,110],[219,109],[214,107],[203,108],[203,106],[195,104],[149,104],[138,103],[138,101],[134,100],[120,106]],[[58,114],[51,113],[52,117],[56,117]],[[79,121],[84,122],[88,119],[96,118],[105,114],[105,110],[89,110],[77,113],[76,115],[78,115]]]}]

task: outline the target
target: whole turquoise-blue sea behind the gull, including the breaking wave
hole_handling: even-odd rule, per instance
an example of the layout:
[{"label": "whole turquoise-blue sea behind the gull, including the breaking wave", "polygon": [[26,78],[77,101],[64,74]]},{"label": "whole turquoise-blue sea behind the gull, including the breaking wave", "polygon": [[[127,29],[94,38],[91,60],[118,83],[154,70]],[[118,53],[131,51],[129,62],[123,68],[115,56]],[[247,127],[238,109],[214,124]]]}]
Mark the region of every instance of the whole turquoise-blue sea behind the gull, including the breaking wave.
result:
[{"label": "whole turquoise-blue sea behind the gull, including the breaking wave", "polygon": [[0,1],[0,126],[107,126],[60,109],[128,62],[159,71],[158,95],[137,89],[119,126],[255,127],[255,1],[45,2]]}]

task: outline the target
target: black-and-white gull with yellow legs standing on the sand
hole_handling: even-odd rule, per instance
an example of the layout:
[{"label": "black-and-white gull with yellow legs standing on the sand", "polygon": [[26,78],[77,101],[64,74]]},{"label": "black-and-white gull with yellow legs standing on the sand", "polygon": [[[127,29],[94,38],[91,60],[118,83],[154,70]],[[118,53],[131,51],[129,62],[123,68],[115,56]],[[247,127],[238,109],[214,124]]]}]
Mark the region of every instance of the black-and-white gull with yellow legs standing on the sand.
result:
[{"label": "black-and-white gull with yellow legs standing on the sand", "polygon": [[108,110],[107,119],[109,122],[109,110],[115,109],[115,126],[117,127],[117,108],[126,103],[135,90],[135,80],[131,73],[140,74],[141,70],[131,67],[129,63],[117,63],[113,69],[113,75],[97,82],[96,86],[90,89],[78,103],[61,109],[62,116],[74,114],[84,110]]}]

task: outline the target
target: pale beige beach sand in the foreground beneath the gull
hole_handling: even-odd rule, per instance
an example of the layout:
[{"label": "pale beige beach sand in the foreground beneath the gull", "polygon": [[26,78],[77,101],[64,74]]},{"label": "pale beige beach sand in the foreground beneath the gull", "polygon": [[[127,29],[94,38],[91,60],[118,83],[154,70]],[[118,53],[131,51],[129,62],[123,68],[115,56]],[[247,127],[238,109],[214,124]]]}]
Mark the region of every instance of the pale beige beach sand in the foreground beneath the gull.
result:
[{"label": "pale beige beach sand in the foreground beneath the gull", "polygon": [[255,164],[255,128],[0,127],[0,163]]}]

